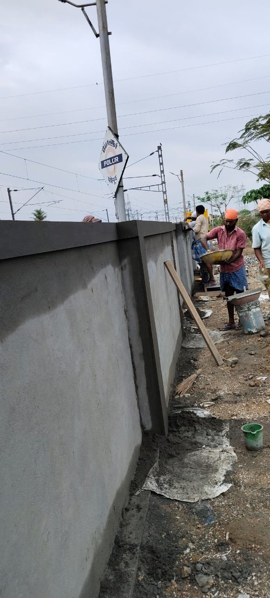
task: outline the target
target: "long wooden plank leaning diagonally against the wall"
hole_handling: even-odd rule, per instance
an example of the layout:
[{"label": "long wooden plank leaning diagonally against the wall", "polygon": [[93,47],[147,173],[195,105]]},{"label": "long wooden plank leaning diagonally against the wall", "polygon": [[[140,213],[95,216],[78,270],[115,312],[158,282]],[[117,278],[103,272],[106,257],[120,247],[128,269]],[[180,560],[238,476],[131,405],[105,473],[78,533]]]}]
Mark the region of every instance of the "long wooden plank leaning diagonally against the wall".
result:
[{"label": "long wooden plank leaning diagonally against the wall", "polygon": [[195,309],[194,304],[192,303],[191,298],[189,297],[189,294],[186,291],[185,286],[182,283],[182,280],[180,280],[180,278],[177,274],[177,271],[173,267],[173,264],[171,263],[170,260],[167,260],[164,262],[164,266],[167,268],[171,279],[173,279],[173,282],[176,285],[176,288],[178,289],[183,300],[185,301],[186,307],[188,307],[189,313],[191,313],[195,324],[197,324],[198,329],[200,330],[201,335],[204,338],[208,349],[211,351],[213,358],[216,361],[216,364],[222,365],[223,364],[222,356],[217,351],[216,346],[213,343],[213,340],[211,339],[210,335],[208,334],[207,329],[205,328],[204,323],[202,322],[200,316],[198,315],[197,310]]}]

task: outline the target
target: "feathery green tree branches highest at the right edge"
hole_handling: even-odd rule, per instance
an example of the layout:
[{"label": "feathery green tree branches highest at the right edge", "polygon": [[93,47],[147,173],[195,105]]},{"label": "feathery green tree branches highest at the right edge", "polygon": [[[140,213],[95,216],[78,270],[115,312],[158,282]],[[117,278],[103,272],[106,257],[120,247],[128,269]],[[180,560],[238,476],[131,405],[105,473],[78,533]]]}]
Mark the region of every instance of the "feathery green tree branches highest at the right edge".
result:
[{"label": "feathery green tree branches highest at the right edge", "polygon": [[[212,164],[211,172],[219,169],[219,175],[223,168],[232,168],[252,172],[257,177],[257,181],[267,181],[270,183],[270,156],[263,158],[257,149],[254,148],[256,141],[270,142],[270,113],[249,120],[244,129],[239,131],[241,135],[232,139],[225,148],[225,154],[240,149],[244,151],[238,160],[223,158],[217,164]],[[218,175],[218,176],[219,176]]]}]

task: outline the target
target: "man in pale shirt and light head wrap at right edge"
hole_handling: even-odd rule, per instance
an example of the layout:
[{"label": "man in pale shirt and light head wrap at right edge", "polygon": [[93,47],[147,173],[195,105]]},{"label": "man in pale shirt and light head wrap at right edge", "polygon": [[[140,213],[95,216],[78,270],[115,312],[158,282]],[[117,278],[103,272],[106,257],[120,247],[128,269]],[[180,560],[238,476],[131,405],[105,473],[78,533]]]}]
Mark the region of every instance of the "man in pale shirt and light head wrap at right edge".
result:
[{"label": "man in pale shirt and light head wrap at right edge", "polygon": [[252,229],[252,246],[260,271],[268,276],[265,288],[270,297],[270,199],[262,199],[257,205],[261,220]]}]

